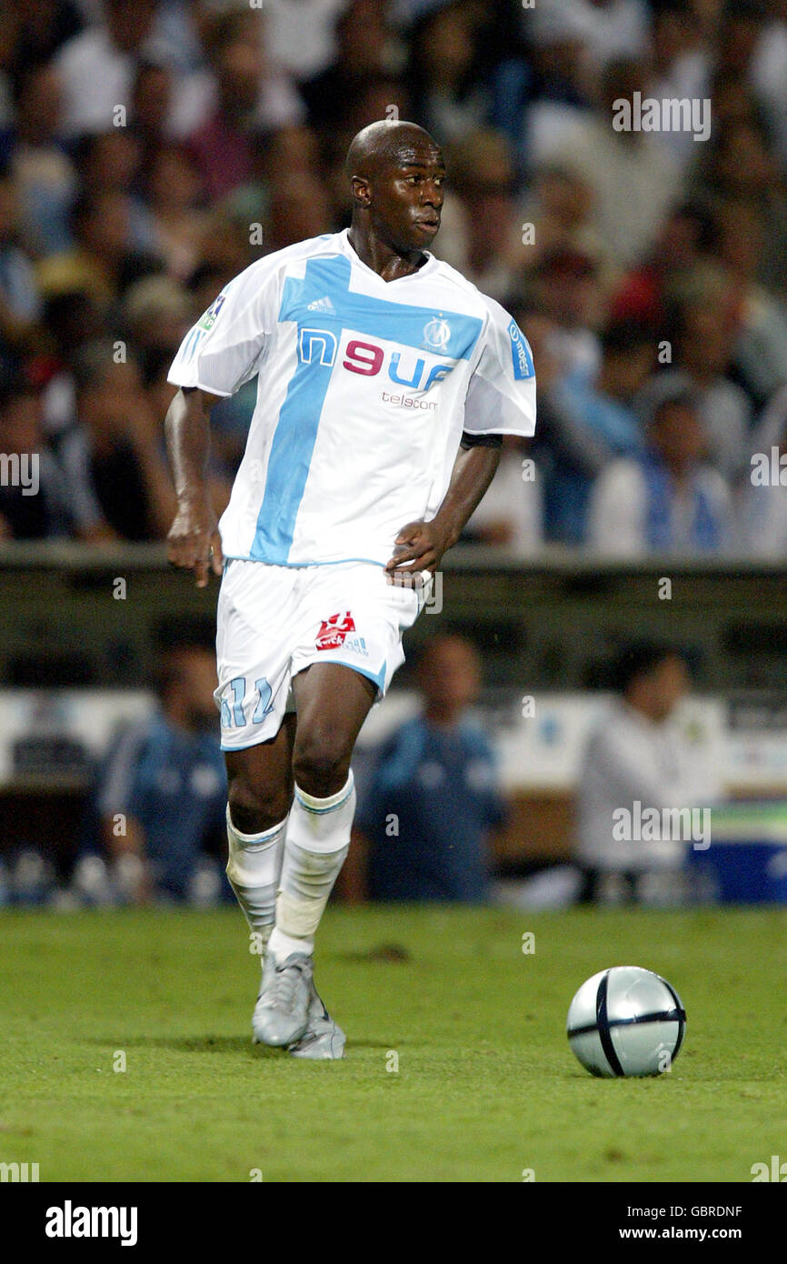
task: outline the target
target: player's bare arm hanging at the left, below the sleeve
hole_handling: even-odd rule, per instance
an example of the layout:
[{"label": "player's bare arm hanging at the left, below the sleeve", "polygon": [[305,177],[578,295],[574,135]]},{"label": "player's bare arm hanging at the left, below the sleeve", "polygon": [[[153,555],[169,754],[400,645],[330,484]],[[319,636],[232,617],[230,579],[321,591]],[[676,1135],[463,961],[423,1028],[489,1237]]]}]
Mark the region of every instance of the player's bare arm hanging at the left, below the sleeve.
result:
[{"label": "player's bare arm hanging at the left, below the sleeve", "polygon": [[217,396],[198,387],[181,387],[164,421],[178,502],[174,522],[167,536],[167,556],[176,566],[195,571],[197,588],[207,584],[211,566],[216,575],[221,575],[224,565],[207,473],[210,410],[217,402]]}]

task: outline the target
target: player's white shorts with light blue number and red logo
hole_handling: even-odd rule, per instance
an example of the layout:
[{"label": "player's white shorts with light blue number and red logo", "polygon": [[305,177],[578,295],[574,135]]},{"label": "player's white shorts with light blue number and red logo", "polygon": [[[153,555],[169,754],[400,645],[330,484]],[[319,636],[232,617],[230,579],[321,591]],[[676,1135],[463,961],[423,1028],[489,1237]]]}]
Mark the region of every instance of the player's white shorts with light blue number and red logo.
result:
[{"label": "player's white shorts with light blue number and red logo", "polygon": [[404,662],[402,633],[431,586],[399,588],[365,561],[273,566],[230,559],[219,593],[213,694],[222,751],[275,737],[294,710],[292,678],[312,662],[352,667],[383,698]]}]

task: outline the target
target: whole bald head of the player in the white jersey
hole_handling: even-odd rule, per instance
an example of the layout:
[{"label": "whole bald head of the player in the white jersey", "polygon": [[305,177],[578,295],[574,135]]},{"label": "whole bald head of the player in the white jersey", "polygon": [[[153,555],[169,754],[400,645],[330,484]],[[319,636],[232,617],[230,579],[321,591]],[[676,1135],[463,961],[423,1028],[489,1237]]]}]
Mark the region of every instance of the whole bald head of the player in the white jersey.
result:
[{"label": "whole bald head of the player in the white jersey", "polygon": [[354,138],[345,169],[354,228],[403,255],[431,244],[440,229],[446,167],[428,131],[416,123],[370,123]]}]

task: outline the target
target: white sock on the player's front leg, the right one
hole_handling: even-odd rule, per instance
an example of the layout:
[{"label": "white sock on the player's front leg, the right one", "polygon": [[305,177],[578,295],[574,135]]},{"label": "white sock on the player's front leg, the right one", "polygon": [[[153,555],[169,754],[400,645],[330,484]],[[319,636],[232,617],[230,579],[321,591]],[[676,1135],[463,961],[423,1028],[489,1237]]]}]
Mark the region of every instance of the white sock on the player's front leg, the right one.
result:
[{"label": "white sock on the player's front leg, the right one", "polygon": [[[296,786],[287,824],[284,863],[275,905],[270,952],[315,951],[315,934],[350,848],[355,815],[352,771],[337,794],[317,799]],[[294,945],[294,947],[293,947]]]}]

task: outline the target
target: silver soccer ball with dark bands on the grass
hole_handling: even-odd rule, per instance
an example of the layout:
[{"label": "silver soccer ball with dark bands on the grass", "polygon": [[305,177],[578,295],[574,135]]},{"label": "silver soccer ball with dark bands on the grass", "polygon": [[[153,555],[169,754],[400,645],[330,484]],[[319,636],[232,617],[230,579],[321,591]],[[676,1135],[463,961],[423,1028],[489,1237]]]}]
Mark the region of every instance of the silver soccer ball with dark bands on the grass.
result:
[{"label": "silver soccer ball with dark bands on the grass", "polygon": [[568,1006],[568,1044],[594,1076],[659,1076],[683,1043],[686,1010],[671,983],[640,966],[613,966]]}]

